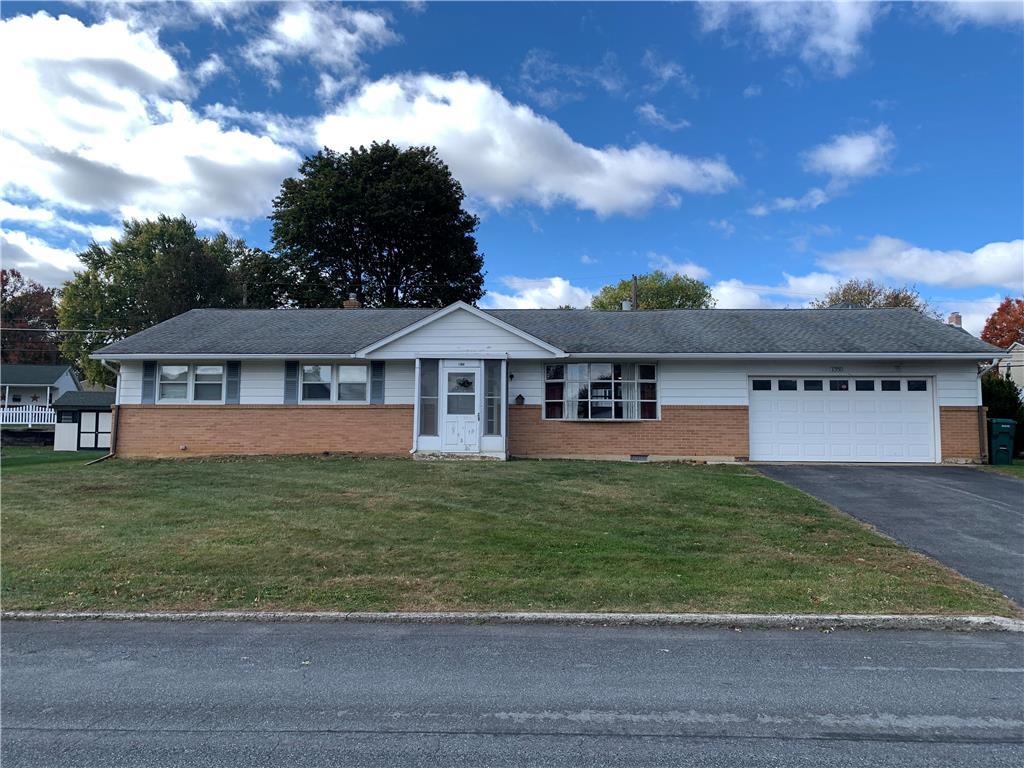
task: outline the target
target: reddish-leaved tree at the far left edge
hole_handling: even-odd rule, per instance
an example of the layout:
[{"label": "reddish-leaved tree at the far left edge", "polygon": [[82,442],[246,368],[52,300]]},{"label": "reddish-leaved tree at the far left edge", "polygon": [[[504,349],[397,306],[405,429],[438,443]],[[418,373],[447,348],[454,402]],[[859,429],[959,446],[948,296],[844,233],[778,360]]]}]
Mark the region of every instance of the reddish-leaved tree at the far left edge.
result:
[{"label": "reddish-leaved tree at the far left edge", "polygon": [[[52,288],[26,280],[17,269],[0,269],[0,358],[4,362],[57,362],[57,334]],[[26,330],[16,330],[26,329]]]}]

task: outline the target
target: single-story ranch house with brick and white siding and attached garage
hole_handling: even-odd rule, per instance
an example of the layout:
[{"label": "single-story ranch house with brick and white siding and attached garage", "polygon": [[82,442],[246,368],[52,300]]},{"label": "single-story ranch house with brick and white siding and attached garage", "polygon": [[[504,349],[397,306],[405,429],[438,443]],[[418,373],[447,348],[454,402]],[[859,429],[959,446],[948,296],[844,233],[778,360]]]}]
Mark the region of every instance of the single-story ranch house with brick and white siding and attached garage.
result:
[{"label": "single-story ranch house with brick and white siding and attached garage", "polygon": [[978,462],[1001,354],[910,309],[459,302],[195,309],[94,356],[128,457]]}]

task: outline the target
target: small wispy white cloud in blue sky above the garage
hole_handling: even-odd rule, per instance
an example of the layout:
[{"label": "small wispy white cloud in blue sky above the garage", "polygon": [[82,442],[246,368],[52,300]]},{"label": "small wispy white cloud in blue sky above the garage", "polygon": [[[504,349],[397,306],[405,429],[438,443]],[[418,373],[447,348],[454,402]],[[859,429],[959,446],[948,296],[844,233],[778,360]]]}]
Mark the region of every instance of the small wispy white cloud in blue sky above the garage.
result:
[{"label": "small wispy white cloud in blue sky above the garage", "polygon": [[809,211],[819,208],[846,191],[853,181],[885,171],[889,167],[895,145],[895,137],[886,125],[880,125],[871,131],[833,136],[802,156],[804,170],[829,177],[824,187],[811,187],[799,198],[775,198],[770,203],[758,203],[748,213],[767,216],[772,211]]}]

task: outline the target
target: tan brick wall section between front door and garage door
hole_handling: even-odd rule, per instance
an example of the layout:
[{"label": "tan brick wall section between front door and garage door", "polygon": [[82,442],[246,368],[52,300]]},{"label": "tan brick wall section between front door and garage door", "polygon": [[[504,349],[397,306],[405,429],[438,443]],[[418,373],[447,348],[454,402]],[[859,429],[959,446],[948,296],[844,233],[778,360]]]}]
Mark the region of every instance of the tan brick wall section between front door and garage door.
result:
[{"label": "tan brick wall section between front door and garage door", "polygon": [[663,406],[660,421],[545,421],[540,406],[509,408],[509,454],[623,459],[740,459],[750,454],[745,406]]}]

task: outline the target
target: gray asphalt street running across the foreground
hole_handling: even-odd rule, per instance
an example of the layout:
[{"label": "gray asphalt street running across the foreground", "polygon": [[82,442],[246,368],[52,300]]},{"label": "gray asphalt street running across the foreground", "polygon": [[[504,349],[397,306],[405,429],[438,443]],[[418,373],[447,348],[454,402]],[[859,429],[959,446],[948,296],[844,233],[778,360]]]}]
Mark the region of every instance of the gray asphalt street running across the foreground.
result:
[{"label": "gray asphalt street running across the foreground", "polygon": [[5,622],[17,766],[1018,766],[1024,637]]}]

